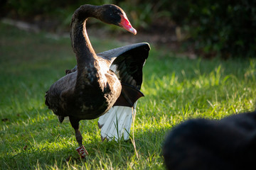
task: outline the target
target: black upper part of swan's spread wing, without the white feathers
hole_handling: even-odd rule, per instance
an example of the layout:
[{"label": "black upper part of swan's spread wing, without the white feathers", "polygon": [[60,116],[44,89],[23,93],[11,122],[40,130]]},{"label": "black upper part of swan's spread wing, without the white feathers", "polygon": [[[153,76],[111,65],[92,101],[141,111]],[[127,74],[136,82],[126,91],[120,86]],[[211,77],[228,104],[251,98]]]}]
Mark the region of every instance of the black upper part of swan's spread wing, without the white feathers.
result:
[{"label": "black upper part of swan's spread wing, without the white feathers", "polygon": [[142,68],[149,56],[149,50],[149,44],[142,42],[98,54],[112,63],[110,69],[117,74],[122,84],[121,95],[114,106],[133,107],[144,96],[139,90],[142,86]]}]

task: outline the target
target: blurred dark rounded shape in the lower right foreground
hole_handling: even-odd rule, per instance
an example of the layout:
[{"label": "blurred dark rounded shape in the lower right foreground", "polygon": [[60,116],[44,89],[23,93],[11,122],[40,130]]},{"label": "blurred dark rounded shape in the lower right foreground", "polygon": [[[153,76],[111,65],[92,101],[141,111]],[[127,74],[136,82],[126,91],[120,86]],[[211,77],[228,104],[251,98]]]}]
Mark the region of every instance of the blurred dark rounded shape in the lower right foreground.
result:
[{"label": "blurred dark rounded shape in the lower right foreground", "polygon": [[163,148],[167,169],[255,169],[256,111],[222,120],[187,120]]}]

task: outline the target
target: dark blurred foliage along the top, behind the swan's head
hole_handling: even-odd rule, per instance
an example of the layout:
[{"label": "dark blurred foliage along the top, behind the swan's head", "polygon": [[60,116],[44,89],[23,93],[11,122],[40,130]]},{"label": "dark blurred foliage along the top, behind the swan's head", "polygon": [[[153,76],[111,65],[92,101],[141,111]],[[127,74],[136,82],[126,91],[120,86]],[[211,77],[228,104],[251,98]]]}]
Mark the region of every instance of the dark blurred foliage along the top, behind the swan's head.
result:
[{"label": "dark blurred foliage along the top, behind the swan's head", "polygon": [[175,23],[184,35],[183,43],[204,57],[256,56],[256,1],[250,0],[7,0],[1,1],[0,14],[23,20],[51,19],[65,27],[82,4],[122,6],[133,25],[142,30],[159,21],[166,26]]}]

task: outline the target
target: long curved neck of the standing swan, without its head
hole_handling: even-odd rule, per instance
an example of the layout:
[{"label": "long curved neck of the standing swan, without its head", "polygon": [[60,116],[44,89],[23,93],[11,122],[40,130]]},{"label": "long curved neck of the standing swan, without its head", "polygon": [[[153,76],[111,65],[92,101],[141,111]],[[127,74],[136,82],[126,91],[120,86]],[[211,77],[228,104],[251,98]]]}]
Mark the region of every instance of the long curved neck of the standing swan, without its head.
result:
[{"label": "long curved neck of the standing swan, without its head", "polygon": [[87,18],[98,18],[97,9],[97,6],[92,5],[80,6],[73,14],[70,25],[70,38],[78,64],[76,89],[86,83],[90,83],[88,81],[94,81],[90,75],[95,75],[94,64],[97,55],[92,48],[85,25]]}]

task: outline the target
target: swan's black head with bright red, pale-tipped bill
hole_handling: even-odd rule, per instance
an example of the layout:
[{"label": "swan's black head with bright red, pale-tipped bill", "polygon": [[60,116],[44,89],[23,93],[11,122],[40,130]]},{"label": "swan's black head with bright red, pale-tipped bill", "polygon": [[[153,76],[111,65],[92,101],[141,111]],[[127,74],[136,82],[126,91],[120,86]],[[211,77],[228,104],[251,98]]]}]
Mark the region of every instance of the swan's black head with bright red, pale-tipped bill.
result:
[{"label": "swan's black head with bright red, pale-tipped bill", "polygon": [[108,4],[102,6],[102,16],[101,20],[105,23],[114,24],[116,26],[120,26],[125,30],[137,34],[137,30],[135,30],[131,23],[129,22],[126,14],[119,6]]}]

